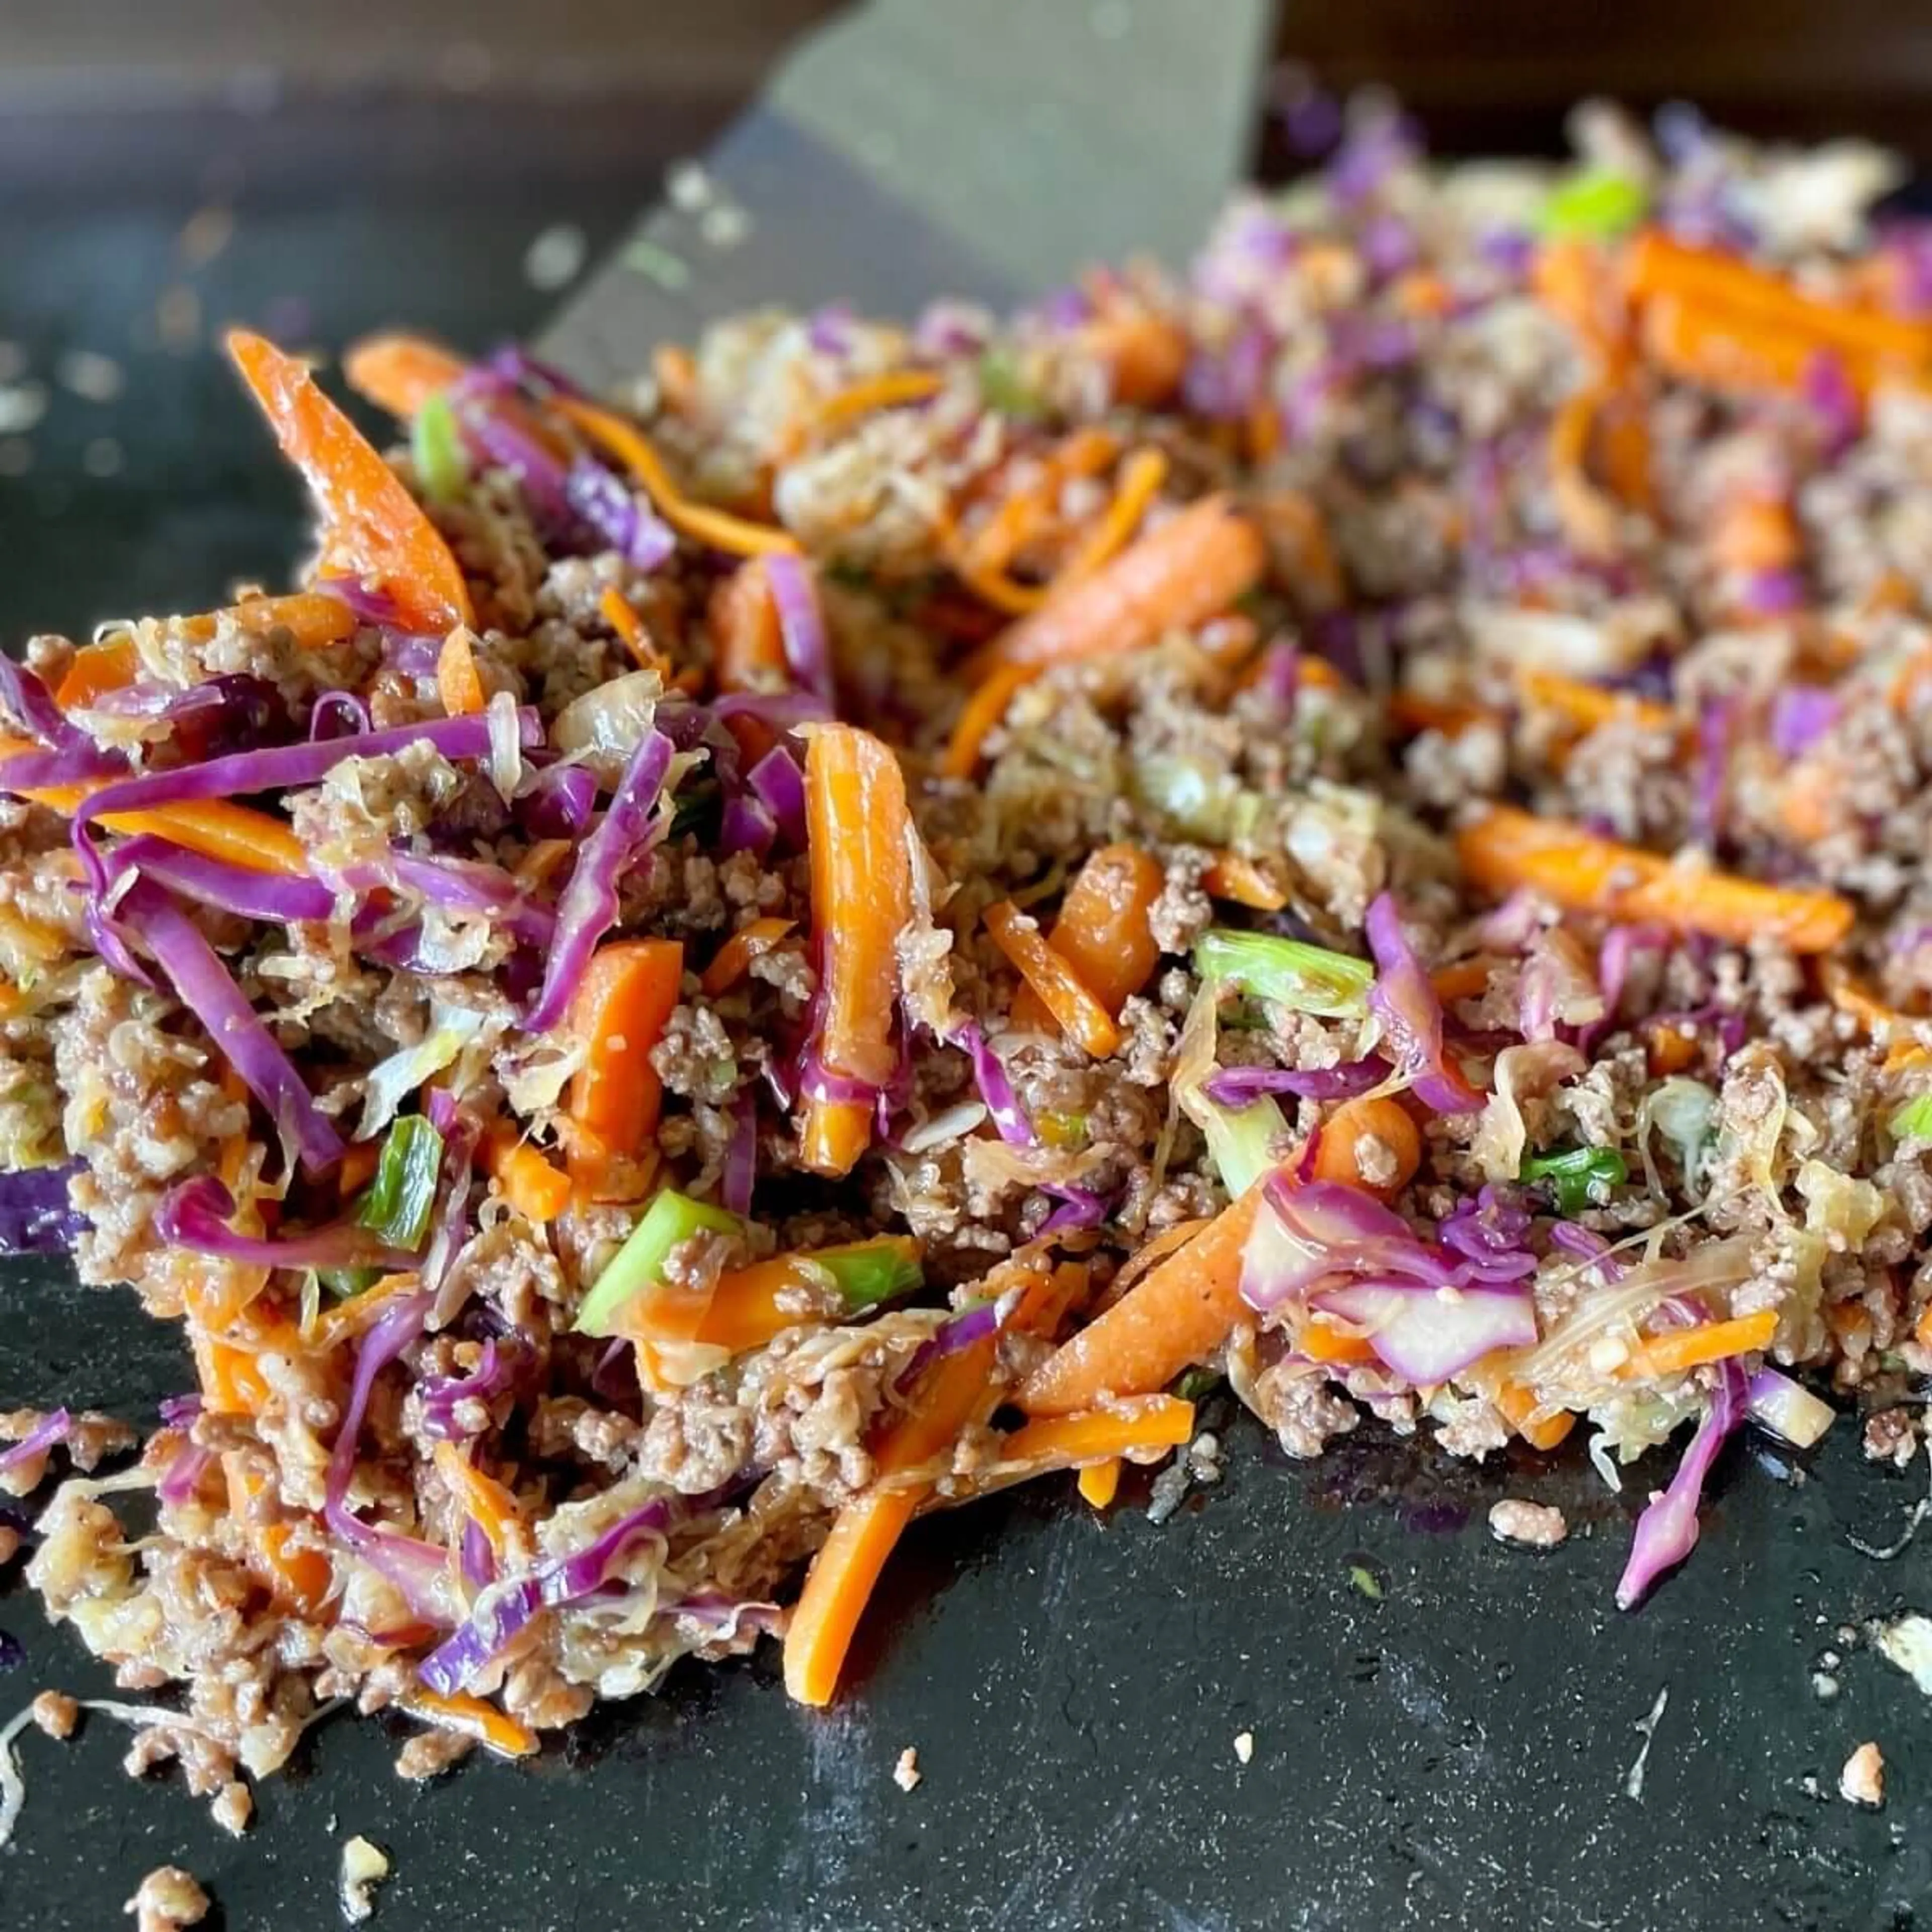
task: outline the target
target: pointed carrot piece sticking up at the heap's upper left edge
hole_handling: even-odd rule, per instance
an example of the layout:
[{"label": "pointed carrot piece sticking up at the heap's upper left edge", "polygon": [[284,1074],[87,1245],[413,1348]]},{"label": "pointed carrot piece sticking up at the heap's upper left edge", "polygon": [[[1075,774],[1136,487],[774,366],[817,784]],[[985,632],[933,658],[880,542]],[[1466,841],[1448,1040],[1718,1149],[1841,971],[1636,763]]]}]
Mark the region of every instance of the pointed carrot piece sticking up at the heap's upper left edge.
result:
[{"label": "pointed carrot piece sticking up at the heap's upper left edge", "polygon": [[315,497],[325,568],[373,578],[413,628],[469,624],[469,589],[450,547],[315,377],[245,328],[228,332],[228,354]]}]

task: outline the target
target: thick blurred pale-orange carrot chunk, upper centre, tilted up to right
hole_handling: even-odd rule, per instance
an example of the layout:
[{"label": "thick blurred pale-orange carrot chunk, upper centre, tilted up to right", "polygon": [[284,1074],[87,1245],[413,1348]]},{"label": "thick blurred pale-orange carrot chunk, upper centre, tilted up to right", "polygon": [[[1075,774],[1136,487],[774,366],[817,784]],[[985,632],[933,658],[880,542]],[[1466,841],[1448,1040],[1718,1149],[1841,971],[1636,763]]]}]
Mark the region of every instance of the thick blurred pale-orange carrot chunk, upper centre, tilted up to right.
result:
[{"label": "thick blurred pale-orange carrot chunk, upper centre, tilted up to right", "polygon": [[1163,632],[1219,616],[1267,566],[1254,526],[1204,497],[1088,578],[1053,589],[987,647],[987,665],[1061,665],[1146,649]]}]

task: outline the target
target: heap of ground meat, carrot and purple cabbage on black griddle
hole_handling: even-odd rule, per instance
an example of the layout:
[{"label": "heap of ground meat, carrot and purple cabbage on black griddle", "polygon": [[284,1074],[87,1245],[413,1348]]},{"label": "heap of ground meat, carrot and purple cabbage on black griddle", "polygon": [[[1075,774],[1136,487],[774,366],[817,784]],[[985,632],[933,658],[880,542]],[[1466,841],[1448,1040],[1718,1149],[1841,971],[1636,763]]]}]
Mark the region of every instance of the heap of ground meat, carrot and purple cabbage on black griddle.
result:
[{"label": "heap of ground meat, carrot and purple cabbage on black griddle", "polygon": [[1932,232],[1578,137],[1362,110],[1186,280],[622,404],[365,342],[386,458],[230,338],[303,585],[0,674],[8,1233],[199,1372],[31,1540],[143,1762],[355,1698],[429,1776],[767,1634],[823,1704],[912,1517],[1107,1507],[1221,1376],[1683,1437],[1633,1607],[1795,1370],[1932,1372]]}]

